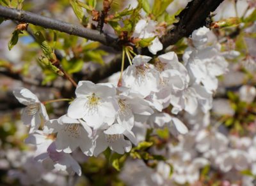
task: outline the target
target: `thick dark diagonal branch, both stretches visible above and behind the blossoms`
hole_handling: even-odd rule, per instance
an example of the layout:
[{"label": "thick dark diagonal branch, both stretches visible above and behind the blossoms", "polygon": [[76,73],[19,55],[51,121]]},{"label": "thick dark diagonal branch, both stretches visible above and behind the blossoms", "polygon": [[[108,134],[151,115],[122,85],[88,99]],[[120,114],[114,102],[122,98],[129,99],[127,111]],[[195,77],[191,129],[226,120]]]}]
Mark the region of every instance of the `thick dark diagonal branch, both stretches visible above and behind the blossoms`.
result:
[{"label": "thick dark diagonal branch, both stretches visible above and behind the blossoms", "polygon": [[[210,15],[211,11],[216,10],[223,0],[193,0],[188,3],[186,8],[179,14],[179,22],[175,27],[161,38],[163,43],[163,50],[170,45],[174,45],[183,37],[188,37],[195,29],[202,27],[206,24],[205,20]],[[159,52],[160,53],[160,52]],[[152,55],[147,48],[143,48],[142,55]],[[109,75],[120,71],[121,55],[117,56],[111,61],[108,66],[103,66],[97,69],[92,74],[84,77],[86,80],[98,82]],[[125,63],[127,64],[127,62]],[[125,68],[127,65],[125,66]]]}]

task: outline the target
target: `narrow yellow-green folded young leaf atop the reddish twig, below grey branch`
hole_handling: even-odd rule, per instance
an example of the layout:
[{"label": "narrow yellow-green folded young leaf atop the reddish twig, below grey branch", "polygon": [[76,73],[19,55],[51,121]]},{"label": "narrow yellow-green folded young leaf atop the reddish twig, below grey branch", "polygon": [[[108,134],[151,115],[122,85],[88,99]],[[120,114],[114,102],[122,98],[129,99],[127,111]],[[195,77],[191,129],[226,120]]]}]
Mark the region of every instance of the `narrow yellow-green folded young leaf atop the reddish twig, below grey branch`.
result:
[{"label": "narrow yellow-green folded young leaf atop the reddish twig, below grey branch", "polygon": [[49,46],[47,41],[44,38],[44,35],[42,32],[38,31],[35,33],[36,42],[40,45],[42,48],[42,51],[48,59],[55,59],[55,55],[53,54],[52,48]]}]

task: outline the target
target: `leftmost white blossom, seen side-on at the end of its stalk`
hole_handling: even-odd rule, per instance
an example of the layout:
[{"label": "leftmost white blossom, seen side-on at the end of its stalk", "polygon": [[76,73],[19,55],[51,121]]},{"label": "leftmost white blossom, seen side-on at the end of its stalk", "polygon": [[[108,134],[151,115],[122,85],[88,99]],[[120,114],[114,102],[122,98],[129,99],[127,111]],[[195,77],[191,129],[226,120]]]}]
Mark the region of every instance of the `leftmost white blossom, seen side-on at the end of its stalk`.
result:
[{"label": "leftmost white blossom, seen side-on at the end of its stalk", "polygon": [[25,125],[31,126],[29,133],[35,132],[42,122],[49,120],[44,104],[30,90],[20,87],[13,90],[13,94],[20,103],[26,105],[21,120]]}]

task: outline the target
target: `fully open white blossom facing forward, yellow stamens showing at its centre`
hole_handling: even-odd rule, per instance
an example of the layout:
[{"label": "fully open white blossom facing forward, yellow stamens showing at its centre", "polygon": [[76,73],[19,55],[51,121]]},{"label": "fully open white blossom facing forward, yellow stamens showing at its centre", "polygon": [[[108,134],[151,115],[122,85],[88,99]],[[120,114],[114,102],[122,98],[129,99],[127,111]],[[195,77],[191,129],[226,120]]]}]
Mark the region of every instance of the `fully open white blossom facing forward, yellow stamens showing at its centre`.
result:
[{"label": "fully open white blossom facing forward, yellow stamens showing at its centre", "polygon": [[103,123],[115,121],[118,111],[116,88],[111,83],[94,84],[81,81],[77,85],[76,99],[68,107],[68,117],[83,118],[86,124],[97,129]]}]

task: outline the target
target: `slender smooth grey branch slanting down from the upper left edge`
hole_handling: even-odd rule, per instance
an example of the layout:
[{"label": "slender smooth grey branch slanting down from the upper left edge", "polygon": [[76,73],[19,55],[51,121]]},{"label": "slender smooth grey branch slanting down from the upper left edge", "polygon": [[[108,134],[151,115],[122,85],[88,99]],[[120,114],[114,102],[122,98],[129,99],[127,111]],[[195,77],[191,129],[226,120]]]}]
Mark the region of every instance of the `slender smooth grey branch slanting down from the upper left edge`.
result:
[{"label": "slender smooth grey branch slanting down from the upper left edge", "polygon": [[69,24],[60,20],[56,20],[42,15],[37,15],[29,11],[17,10],[0,5],[0,17],[26,22],[33,25],[39,25],[45,29],[53,29],[60,32],[65,32],[70,35],[79,36],[81,38],[99,41],[103,45],[113,47],[118,50],[118,39],[112,38],[107,34],[100,34],[99,31],[87,29],[78,25]]}]

